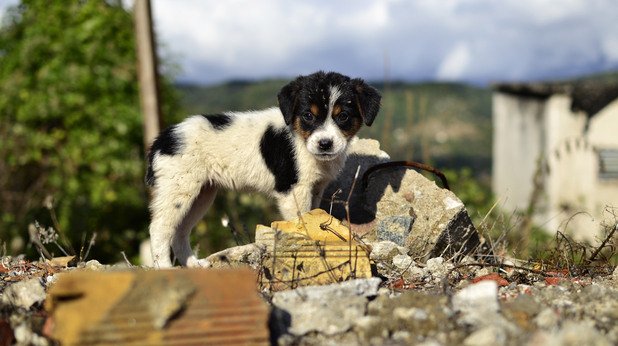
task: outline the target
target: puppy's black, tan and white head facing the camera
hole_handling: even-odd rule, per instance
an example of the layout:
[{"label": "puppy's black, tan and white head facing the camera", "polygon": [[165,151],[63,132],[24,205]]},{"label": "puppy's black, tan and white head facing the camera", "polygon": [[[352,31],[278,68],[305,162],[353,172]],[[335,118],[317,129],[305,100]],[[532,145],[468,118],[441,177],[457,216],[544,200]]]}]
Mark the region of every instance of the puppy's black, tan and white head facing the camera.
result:
[{"label": "puppy's black, tan and white head facing the camera", "polygon": [[322,71],[296,78],[278,95],[285,123],[323,161],[344,153],[362,124],[373,123],[380,98],[362,79]]}]

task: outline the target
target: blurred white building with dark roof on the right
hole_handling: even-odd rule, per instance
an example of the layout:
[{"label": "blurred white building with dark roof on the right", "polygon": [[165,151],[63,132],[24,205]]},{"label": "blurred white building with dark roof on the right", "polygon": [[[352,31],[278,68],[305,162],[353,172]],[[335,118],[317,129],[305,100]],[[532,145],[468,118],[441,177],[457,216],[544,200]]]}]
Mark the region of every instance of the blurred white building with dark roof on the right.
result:
[{"label": "blurred white building with dark roof on the right", "polygon": [[535,224],[586,240],[607,207],[618,215],[618,83],[496,85],[493,126],[503,209],[525,212],[532,201]]}]

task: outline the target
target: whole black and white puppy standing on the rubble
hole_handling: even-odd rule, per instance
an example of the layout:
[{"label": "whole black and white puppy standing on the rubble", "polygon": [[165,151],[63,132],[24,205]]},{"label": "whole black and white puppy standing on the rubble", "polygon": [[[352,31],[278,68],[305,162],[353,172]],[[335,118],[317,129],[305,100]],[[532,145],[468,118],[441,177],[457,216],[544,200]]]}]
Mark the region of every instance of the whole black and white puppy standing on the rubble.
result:
[{"label": "whole black and white puppy standing on the rubble", "polygon": [[156,267],[200,266],[189,234],[219,188],[277,200],[285,219],[318,207],[362,123],[371,125],[380,94],[334,72],[300,76],[278,94],[279,108],[195,115],[162,131],[148,155],[150,240]]}]

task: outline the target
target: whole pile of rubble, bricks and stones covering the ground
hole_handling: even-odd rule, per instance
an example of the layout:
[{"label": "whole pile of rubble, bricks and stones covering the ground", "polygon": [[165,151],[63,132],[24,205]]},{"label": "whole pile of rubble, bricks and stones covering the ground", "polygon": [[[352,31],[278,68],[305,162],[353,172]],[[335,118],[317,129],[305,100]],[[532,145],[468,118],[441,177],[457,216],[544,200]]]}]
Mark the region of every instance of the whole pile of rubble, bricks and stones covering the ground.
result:
[{"label": "whole pile of rubble, bricks and stones covering the ground", "polygon": [[452,192],[403,168],[363,178],[385,160],[360,141],[322,209],[207,268],[5,257],[0,346],[618,344],[618,269],[505,265]]}]

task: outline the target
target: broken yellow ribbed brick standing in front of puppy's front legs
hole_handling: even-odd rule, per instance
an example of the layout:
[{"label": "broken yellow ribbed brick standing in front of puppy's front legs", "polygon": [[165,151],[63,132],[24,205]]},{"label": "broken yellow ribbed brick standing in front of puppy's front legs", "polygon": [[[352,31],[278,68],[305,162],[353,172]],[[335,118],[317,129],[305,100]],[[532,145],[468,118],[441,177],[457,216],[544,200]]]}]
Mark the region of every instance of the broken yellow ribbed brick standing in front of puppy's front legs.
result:
[{"label": "broken yellow ribbed brick standing in front of puppy's front legs", "polygon": [[280,291],[372,276],[369,249],[324,210],[291,221],[259,225],[255,241],[266,247],[263,289]]}]

